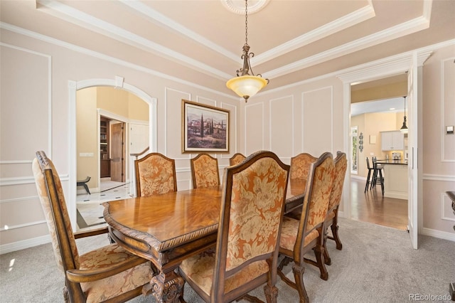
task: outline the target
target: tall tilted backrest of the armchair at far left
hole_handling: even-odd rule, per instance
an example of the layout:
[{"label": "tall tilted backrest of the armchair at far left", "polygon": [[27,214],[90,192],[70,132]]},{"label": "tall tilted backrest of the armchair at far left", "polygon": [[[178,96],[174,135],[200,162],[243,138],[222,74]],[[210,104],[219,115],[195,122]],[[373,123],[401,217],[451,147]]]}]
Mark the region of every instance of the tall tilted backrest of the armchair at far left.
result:
[{"label": "tall tilted backrest of the armchair at far left", "polygon": [[79,252],[71,227],[60,177],[44,151],[37,151],[32,164],[38,197],[48,223],[58,268],[65,272],[79,268]]}]

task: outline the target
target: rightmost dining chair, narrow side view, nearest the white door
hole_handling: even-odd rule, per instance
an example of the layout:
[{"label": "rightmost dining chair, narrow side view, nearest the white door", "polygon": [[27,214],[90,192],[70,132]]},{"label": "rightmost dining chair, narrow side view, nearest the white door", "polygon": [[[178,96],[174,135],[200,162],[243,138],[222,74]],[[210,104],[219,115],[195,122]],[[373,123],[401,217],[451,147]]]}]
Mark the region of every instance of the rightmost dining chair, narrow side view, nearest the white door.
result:
[{"label": "rightmost dining chair, narrow side view, nearest the white door", "polygon": [[[348,159],[346,153],[338,151],[335,160],[335,179],[333,179],[333,186],[330,195],[330,202],[328,203],[328,213],[325,223],[325,238],[324,238],[324,261],[326,265],[331,265],[331,258],[328,255],[326,241],[327,239],[334,240],[336,249],[341,250],[343,244],[338,236],[338,208],[340,207],[341,194],[343,193],[344,178],[346,176],[346,169],[348,168]],[[328,236],[327,229],[330,226],[332,235]]]}]

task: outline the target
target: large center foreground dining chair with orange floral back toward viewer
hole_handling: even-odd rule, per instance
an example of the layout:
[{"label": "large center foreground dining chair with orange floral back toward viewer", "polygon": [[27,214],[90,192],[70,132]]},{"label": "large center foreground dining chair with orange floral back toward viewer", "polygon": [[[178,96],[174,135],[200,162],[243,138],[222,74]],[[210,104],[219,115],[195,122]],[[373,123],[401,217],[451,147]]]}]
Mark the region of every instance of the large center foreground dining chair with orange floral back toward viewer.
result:
[{"label": "large center foreground dining chair with orange floral back toward viewer", "polygon": [[289,165],[272,151],[225,168],[216,247],[183,260],[178,270],[205,302],[262,302],[248,292],[264,284],[267,302],[277,302],[288,176]]}]

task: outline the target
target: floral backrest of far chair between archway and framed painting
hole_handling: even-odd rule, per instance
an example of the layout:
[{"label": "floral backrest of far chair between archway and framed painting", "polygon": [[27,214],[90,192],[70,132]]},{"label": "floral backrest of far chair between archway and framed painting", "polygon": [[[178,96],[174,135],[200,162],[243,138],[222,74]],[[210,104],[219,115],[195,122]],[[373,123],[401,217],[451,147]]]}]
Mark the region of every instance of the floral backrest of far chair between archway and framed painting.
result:
[{"label": "floral backrest of far chair between archway and framed painting", "polygon": [[138,197],[177,191],[176,161],[150,153],[134,161]]}]

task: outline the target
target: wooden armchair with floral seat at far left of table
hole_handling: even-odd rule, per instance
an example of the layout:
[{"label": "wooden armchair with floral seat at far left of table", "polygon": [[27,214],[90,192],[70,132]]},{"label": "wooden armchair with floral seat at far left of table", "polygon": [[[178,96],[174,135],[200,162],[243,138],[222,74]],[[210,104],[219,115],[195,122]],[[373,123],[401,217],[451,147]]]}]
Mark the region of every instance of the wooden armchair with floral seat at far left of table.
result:
[{"label": "wooden armchair with floral seat at far left of table", "polygon": [[43,151],[37,151],[32,169],[55,261],[65,276],[65,302],[126,302],[139,296],[151,280],[151,263],[115,243],[79,255],[75,239],[107,233],[107,228],[73,233],[52,161]]}]

